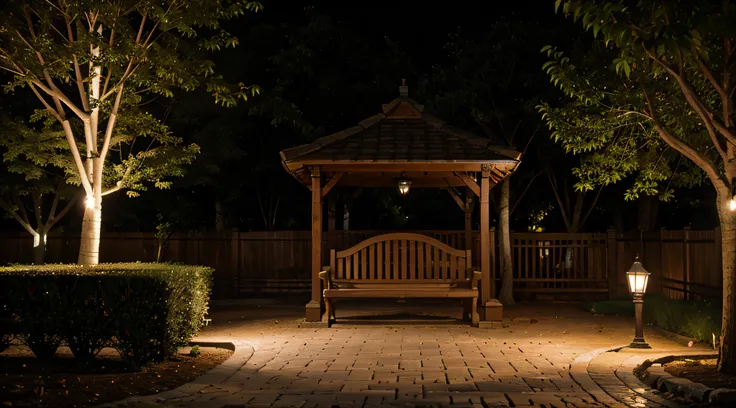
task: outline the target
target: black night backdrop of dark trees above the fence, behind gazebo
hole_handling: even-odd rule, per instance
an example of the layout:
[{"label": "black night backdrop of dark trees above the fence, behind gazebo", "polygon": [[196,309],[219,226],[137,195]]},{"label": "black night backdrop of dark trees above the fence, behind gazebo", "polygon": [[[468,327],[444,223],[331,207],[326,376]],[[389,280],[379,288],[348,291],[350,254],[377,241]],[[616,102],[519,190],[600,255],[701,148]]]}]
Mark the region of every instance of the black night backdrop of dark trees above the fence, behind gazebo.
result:
[{"label": "black night backdrop of dark trees above the fence, behind gazebo", "polygon": [[[570,174],[578,159],[550,141],[534,110],[543,98],[563,100],[540,69],[545,58],[539,50],[554,42],[585,52],[587,45],[577,27],[554,13],[553,2],[263,5],[263,12],[230,23],[240,45],[215,60],[228,80],[257,84],[261,95],[235,108],[217,106],[204,91],[149,103],[150,112],[187,143],[198,144],[201,154],[170,190],[106,198],[105,230],[153,231],[161,220],[177,231],[307,229],[308,190],[283,170],[278,152],[379,112],[406,78],[410,96],[457,126],[500,143],[516,129],[512,143],[527,152],[513,179],[512,202],[519,203],[511,228],[525,231],[536,214],[545,213],[544,230],[564,231],[550,185],[538,175],[550,168]],[[28,115],[22,93],[1,98],[3,114]],[[707,186],[678,190],[671,202],[653,204],[624,202],[625,188],[604,189],[583,229],[716,225],[714,193]],[[652,205],[654,211],[641,210]],[[79,204],[62,229],[78,231],[81,214]],[[444,191],[413,189],[399,196],[394,189],[368,189],[351,209],[350,227],[460,229],[462,219]],[[12,220],[0,223],[3,230],[20,228]]]}]

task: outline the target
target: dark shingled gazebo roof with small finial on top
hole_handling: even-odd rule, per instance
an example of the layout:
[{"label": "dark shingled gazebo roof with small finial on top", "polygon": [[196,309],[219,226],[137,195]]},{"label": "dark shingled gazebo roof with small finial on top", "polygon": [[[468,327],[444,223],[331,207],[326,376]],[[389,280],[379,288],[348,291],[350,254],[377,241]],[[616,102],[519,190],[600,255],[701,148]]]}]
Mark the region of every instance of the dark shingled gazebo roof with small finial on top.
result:
[{"label": "dark shingled gazebo roof with small finial on top", "polygon": [[306,182],[305,167],[314,165],[490,164],[504,174],[518,165],[518,151],[448,125],[424,113],[424,106],[407,96],[405,86],[400,92],[383,105],[383,113],[357,126],[285,149],[284,167]]}]

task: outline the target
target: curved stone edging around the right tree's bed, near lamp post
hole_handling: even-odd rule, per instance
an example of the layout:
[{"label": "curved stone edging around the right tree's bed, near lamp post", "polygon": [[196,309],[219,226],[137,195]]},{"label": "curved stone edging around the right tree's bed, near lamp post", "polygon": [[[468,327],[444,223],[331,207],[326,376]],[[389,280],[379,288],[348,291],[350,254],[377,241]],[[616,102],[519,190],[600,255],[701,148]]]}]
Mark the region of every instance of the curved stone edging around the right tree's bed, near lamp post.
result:
[{"label": "curved stone edging around the right tree's bed, near lamp post", "polygon": [[733,406],[736,404],[736,389],[711,388],[686,378],[675,377],[664,370],[662,364],[681,358],[705,359],[718,357],[718,354],[669,355],[653,361],[646,360],[641,366],[642,380],[652,388],[664,390],[688,401],[710,405]]}]

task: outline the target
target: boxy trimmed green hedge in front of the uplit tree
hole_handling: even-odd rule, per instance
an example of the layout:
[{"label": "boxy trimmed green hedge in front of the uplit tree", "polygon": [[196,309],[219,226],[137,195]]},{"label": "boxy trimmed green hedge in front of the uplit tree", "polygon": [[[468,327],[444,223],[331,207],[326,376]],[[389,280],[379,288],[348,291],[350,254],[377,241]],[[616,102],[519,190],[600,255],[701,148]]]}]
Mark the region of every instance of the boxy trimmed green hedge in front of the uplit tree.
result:
[{"label": "boxy trimmed green hedge in front of the uplit tree", "polygon": [[114,347],[134,366],[173,354],[202,327],[211,268],[161,263],[0,268],[0,308],[37,358]]}]

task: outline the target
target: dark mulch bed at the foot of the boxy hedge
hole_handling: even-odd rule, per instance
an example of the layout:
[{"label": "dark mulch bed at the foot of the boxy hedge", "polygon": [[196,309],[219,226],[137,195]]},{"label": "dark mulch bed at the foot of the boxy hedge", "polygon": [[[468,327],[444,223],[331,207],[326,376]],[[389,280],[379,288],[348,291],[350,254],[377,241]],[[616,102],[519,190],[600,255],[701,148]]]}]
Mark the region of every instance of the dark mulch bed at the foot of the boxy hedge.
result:
[{"label": "dark mulch bed at the foot of the boxy hedge", "polygon": [[103,350],[92,362],[80,363],[67,348],[52,361],[40,361],[22,345],[0,353],[0,406],[88,407],[118,401],[131,395],[150,395],[176,388],[215,368],[231,350],[189,349],[161,363],[132,371],[117,353]]}]

